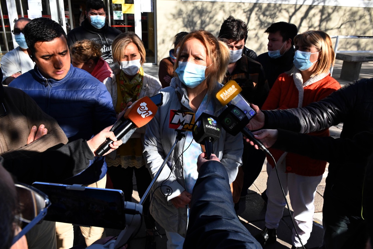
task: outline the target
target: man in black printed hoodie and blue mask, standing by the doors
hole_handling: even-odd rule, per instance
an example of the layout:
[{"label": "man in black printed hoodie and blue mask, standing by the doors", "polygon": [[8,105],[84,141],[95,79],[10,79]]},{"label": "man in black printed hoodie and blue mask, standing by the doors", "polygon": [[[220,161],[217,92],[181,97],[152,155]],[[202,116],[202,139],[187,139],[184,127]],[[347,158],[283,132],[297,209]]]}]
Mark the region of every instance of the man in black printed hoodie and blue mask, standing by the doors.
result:
[{"label": "man in black printed hoodie and blue mask, standing by the doors", "polygon": [[112,70],[119,68],[113,61],[112,43],[117,35],[122,33],[116,28],[109,27],[106,20],[105,6],[102,0],[88,0],[85,19],[81,26],[68,33],[69,47],[76,41],[88,39],[101,44],[102,58]]}]

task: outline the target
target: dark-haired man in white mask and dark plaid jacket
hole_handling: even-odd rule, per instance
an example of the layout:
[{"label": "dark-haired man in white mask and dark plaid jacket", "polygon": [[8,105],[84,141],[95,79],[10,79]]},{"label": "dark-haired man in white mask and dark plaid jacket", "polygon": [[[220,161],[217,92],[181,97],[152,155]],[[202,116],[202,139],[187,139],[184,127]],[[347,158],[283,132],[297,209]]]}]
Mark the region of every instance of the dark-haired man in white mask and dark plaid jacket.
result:
[{"label": "dark-haired man in white mask and dark plaid jacket", "polygon": [[[241,95],[248,102],[258,106],[263,105],[269,92],[268,82],[260,63],[242,53],[247,39],[247,26],[245,22],[229,16],[224,20],[220,28],[219,39],[225,40],[231,53],[228,70],[223,83],[225,84],[229,80],[234,80],[241,86]],[[248,157],[249,154],[250,160]],[[242,197],[241,199],[244,199],[247,195],[247,189],[257,177],[254,180],[251,179],[251,172],[249,172],[251,165],[260,165],[260,162],[263,165],[264,159],[265,154],[263,151],[254,150],[247,144],[244,145],[244,153],[242,154],[243,165],[239,168],[236,180],[233,182],[233,200],[235,203],[238,203],[240,196]],[[257,161],[258,163],[256,163]],[[238,209],[238,204],[235,208]]]}]

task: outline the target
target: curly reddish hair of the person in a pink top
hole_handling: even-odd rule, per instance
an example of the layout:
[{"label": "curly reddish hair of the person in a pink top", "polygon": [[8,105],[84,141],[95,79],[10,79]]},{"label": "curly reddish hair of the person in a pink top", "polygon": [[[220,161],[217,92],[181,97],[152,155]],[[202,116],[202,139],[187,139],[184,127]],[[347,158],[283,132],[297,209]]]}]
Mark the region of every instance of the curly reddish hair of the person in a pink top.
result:
[{"label": "curly reddish hair of the person in a pink top", "polygon": [[70,46],[70,53],[72,58],[80,63],[85,63],[92,59],[97,63],[101,57],[101,45],[90,40],[77,41]]}]

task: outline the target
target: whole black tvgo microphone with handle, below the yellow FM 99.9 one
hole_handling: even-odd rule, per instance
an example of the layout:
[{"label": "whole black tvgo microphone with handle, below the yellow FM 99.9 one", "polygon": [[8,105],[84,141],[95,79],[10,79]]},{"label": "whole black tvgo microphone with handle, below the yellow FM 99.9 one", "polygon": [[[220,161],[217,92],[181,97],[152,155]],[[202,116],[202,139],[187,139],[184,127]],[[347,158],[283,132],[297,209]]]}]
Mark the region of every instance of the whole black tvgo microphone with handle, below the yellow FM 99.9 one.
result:
[{"label": "whole black tvgo microphone with handle, below the yellow FM 99.9 one", "polygon": [[239,132],[242,132],[244,136],[250,138],[254,144],[258,145],[261,150],[271,154],[269,150],[254,137],[254,134],[247,129],[246,126],[250,120],[240,108],[236,107],[235,105],[229,105],[218,118],[226,132],[233,136],[237,135]]}]

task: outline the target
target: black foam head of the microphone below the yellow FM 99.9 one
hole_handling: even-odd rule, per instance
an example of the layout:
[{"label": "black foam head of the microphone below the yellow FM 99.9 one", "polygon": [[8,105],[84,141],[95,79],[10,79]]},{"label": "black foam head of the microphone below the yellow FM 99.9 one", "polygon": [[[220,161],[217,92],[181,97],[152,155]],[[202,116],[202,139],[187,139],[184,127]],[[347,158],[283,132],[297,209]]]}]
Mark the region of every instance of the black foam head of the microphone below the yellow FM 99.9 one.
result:
[{"label": "black foam head of the microphone below the yellow FM 99.9 one", "polygon": [[218,117],[224,130],[235,136],[249,123],[244,111],[235,105],[229,105]]}]

